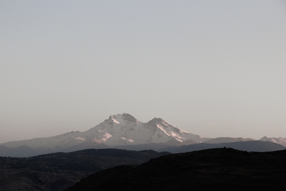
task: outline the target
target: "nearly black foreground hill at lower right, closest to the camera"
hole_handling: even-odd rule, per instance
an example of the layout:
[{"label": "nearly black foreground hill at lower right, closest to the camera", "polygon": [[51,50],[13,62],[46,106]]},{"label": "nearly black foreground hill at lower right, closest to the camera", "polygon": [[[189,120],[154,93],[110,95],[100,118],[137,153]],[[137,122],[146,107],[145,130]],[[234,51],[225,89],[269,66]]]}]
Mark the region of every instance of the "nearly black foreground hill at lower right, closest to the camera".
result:
[{"label": "nearly black foreground hill at lower right, closest to the camera", "polygon": [[106,169],[66,191],[276,190],[286,188],[286,150],[247,152],[217,148]]}]

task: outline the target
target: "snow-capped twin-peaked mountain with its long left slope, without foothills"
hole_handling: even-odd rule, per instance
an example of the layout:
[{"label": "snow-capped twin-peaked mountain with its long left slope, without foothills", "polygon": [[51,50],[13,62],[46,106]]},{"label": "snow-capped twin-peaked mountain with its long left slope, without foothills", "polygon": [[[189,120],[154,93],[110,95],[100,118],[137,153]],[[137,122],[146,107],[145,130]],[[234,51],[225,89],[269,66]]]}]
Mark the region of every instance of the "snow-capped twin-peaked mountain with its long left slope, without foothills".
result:
[{"label": "snow-capped twin-peaked mountain with its long left slope, without foothills", "polygon": [[188,133],[160,118],[154,118],[148,123],[142,123],[132,115],[124,113],[111,115],[108,119],[88,131],[72,131],[54,137],[10,141],[0,145],[10,148],[26,145],[33,149],[67,149],[75,145],[90,142],[116,146],[166,143],[170,140],[178,141],[178,143],[193,140],[200,143],[210,140],[210,138]]}]

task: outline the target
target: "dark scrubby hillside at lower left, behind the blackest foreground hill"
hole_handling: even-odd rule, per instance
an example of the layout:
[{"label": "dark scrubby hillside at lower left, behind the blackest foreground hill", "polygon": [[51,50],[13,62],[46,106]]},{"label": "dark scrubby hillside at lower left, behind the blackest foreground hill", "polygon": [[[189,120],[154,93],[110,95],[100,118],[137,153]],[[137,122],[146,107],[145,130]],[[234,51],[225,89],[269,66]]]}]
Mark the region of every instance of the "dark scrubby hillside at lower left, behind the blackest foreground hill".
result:
[{"label": "dark scrubby hillside at lower left, behind the blackest foreground hill", "polygon": [[80,179],[118,165],[139,165],[166,152],[86,149],[29,158],[0,157],[0,191],[65,190]]}]

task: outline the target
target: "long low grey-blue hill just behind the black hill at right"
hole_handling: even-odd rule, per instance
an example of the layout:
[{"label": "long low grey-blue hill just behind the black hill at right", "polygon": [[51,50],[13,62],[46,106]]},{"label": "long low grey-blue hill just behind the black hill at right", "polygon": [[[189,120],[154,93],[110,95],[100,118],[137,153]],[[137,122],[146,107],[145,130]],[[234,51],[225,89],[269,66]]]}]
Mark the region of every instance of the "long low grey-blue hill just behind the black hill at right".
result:
[{"label": "long low grey-blue hill just behind the black hill at right", "polygon": [[203,149],[230,147],[241,151],[254,151],[254,152],[268,152],[268,151],[279,151],[284,150],[280,144],[269,142],[269,141],[238,141],[231,143],[198,143],[192,145],[182,145],[178,147],[166,147],[158,149],[157,151],[167,151],[170,153],[184,153],[191,151],[199,151]]}]

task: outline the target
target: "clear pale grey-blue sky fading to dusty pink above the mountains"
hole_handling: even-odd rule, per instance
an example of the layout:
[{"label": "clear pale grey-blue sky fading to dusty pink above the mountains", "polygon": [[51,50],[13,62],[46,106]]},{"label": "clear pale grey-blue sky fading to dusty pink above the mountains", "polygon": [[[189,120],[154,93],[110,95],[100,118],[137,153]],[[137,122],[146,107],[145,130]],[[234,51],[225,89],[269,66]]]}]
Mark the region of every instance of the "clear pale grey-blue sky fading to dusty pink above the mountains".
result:
[{"label": "clear pale grey-blue sky fading to dusty pink above the mountains", "polygon": [[154,117],[286,137],[286,1],[0,1],[0,143]]}]

